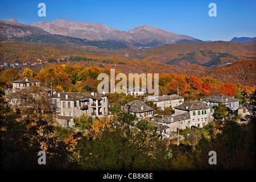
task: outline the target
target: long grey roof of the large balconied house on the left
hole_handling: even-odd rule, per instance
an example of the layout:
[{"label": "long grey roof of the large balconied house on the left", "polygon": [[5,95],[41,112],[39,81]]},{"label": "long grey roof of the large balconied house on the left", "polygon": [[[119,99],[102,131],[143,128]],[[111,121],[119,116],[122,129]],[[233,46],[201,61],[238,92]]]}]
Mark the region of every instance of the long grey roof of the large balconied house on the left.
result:
[{"label": "long grey roof of the large balconied house on the left", "polygon": [[[60,94],[60,97],[59,97]],[[90,92],[59,92],[53,94],[52,98],[60,98],[60,100],[66,100],[66,101],[77,101],[77,100],[83,100],[87,98],[94,98],[96,100],[102,100],[102,97],[108,97],[106,94],[102,93],[92,93]],[[68,98],[66,98],[66,95],[68,95]]]}]

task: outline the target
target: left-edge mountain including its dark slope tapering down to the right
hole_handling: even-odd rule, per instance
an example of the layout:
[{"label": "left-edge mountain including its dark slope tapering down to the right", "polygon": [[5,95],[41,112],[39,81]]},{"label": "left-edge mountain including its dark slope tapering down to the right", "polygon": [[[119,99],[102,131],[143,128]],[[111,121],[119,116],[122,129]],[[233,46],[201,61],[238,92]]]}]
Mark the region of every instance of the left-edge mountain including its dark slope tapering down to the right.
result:
[{"label": "left-edge mountain including its dark slope tapering down to the right", "polygon": [[107,49],[128,48],[123,43],[90,41],[71,36],[50,34],[41,28],[31,26],[31,24],[18,23],[16,19],[0,20],[0,38],[16,39],[24,42],[67,44],[76,47],[97,47]]}]

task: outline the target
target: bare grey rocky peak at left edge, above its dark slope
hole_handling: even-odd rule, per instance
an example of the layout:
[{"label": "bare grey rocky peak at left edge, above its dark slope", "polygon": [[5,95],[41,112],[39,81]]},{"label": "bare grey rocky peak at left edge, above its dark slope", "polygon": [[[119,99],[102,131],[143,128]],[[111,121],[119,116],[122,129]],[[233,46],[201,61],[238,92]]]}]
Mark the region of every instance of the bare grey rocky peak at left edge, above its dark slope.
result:
[{"label": "bare grey rocky peak at left edge, above its dark slope", "polygon": [[51,35],[30,24],[18,23],[16,19],[0,19],[0,38],[16,38],[31,35]]}]

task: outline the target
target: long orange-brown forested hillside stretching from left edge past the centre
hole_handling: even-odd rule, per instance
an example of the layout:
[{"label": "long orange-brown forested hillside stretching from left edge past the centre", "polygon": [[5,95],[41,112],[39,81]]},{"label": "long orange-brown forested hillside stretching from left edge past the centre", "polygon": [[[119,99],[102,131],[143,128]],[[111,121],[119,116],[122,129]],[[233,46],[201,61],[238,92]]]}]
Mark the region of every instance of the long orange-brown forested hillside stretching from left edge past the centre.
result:
[{"label": "long orange-brown forested hillside stretching from left edge past the centre", "polygon": [[[42,69],[56,64],[79,65],[82,67],[115,68],[123,73],[179,73],[200,75],[205,71],[199,65],[188,65],[180,68],[177,65],[166,65],[155,61],[129,59],[123,56],[124,51],[136,54],[137,49],[109,50],[98,48],[78,48],[65,44],[32,43],[18,40],[2,40],[0,63],[26,63],[27,67],[38,63]],[[17,68],[18,69],[18,68]],[[35,68],[34,68],[35,69]],[[196,71],[196,70],[199,71]],[[39,70],[38,70],[39,71]]]}]

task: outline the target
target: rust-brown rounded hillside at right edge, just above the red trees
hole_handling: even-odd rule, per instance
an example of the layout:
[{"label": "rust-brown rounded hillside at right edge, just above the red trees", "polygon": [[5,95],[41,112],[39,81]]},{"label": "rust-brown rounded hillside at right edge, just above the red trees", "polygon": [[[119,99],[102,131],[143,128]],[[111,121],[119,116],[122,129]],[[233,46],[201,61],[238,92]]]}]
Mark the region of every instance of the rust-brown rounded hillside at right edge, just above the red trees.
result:
[{"label": "rust-brown rounded hillside at right edge, just above the red trees", "polygon": [[211,69],[203,74],[203,77],[212,77],[221,82],[256,86],[256,59],[239,60],[232,64],[223,65]]}]

